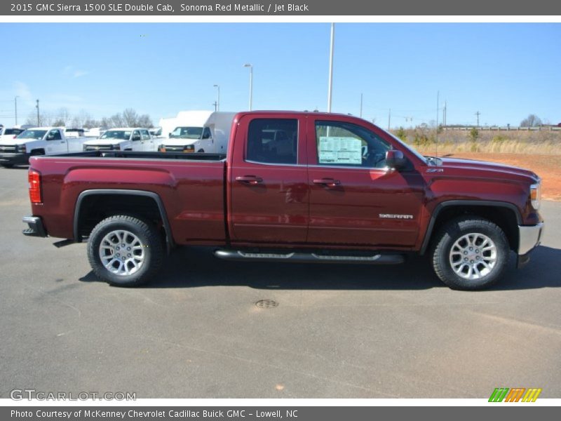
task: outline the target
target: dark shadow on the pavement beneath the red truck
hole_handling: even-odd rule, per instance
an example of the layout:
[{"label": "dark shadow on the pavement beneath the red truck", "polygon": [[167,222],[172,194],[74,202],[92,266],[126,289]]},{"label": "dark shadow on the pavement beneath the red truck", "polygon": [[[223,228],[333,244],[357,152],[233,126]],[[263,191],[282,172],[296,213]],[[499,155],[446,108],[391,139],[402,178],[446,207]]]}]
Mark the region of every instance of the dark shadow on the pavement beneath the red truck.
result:
[{"label": "dark shadow on the pavement beneath the red truck", "polygon": [[[558,262],[561,250],[539,247],[532,260],[509,268],[499,283],[488,290],[520,290],[561,287]],[[81,281],[98,281],[93,272]],[[447,288],[434,274],[427,258],[408,258],[403,265],[339,265],[276,262],[228,262],[208,248],[180,248],[164,263],[158,278],[140,288],[197,288],[248,286],[258,289],[293,290],[424,290]]]}]

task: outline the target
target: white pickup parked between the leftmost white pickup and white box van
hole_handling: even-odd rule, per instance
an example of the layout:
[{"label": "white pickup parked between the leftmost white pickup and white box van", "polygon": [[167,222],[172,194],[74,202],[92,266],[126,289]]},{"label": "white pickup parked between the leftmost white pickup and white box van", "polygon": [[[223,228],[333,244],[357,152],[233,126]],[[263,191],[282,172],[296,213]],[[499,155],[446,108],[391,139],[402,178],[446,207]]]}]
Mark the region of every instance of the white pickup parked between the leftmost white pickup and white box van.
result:
[{"label": "white pickup parked between the leftmost white pickup and white box van", "polygon": [[145,151],[156,152],[156,142],[147,128],[110,128],[99,138],[83,144],[87,151]]}]

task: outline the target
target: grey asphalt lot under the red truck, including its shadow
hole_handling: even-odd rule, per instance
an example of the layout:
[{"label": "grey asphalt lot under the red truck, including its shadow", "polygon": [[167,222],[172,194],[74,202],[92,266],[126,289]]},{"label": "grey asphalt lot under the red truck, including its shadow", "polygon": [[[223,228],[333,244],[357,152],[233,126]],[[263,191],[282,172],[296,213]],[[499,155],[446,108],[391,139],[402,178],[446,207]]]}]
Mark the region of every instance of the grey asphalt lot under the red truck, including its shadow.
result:
[{"label": "grey asphalt lot under the red truck, including its shadow", "polygon": [[[27,169],[0,168],[0,398],[487,398],[561,390],[561,203],[491,290],[405,265],[225,262],[177,250],[149,286],[97,281],[86,245],[21,234]],[[257,307],[259,300],[276,307]]]}]

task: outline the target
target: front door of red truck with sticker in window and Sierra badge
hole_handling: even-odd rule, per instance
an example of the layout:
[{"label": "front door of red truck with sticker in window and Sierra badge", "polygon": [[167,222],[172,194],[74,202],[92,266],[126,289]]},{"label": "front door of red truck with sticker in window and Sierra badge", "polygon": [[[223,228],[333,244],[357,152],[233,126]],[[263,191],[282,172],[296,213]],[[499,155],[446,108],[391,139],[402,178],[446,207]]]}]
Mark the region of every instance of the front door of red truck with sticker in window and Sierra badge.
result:
[{"label": "front door of red truck with sticker in window and Sierra badge", "polygon": [[372,128],[344,116],[309,119],[308,243],[414,245],[423,180],[413,166],[386,168],[391,140]]}]

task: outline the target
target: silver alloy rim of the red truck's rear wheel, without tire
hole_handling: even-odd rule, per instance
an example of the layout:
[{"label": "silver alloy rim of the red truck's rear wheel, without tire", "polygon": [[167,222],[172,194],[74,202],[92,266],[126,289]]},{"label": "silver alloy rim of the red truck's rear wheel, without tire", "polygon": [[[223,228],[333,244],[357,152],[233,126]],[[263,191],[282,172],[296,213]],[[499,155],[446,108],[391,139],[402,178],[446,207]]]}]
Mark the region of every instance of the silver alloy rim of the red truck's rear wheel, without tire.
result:
[{"label": "silver alloy rim of the red truck's rear wheel, without tire", "polygon": [[128,276],[144,264],[144,244],[130,231],[117,229],[109,232],[100,243],[100,259],[109,272]]}]

